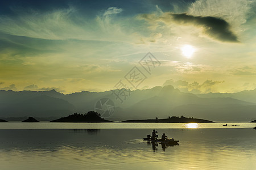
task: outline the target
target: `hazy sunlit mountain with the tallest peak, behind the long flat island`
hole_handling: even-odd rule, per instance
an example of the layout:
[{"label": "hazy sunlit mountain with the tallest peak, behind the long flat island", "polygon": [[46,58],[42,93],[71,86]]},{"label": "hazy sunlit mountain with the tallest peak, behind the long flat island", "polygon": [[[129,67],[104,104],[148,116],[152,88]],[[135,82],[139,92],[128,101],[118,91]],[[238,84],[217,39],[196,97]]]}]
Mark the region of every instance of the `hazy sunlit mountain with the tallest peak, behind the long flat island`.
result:
[{"label": "hazy sunlit mountain with the tallest peak, behind the long flat island", "polygon": [[[118,112],[118,109],[121,112]],[[117,108],[124,119],[167,118],[171,116],[202,117],[208,120],[241,120],[253,118],[256,112],[254,103],[230,97],[203,98],[174,90],[172,86],[160,89],[159,94],[139,101],[128,108]],[[113,118],[118,119],[118,114]]]}]

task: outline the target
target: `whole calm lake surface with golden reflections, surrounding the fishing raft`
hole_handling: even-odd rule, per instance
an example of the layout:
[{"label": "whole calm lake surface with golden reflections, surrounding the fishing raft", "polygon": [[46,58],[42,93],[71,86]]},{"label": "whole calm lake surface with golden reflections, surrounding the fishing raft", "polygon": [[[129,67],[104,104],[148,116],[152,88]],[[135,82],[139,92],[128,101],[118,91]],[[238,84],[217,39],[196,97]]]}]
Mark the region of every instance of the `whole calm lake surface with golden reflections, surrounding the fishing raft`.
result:
[{"label": "whole calm lake surface with golden reflections, surrounding the fishing raft", "polygon": [[[90,124],[4,124],[0,126],[0,169],[256,169],[256,130],[246,128],[256,124],[91,126],[100,129],[80,128]],[[155,127],[158,134],[166,133],[180,145],[143,141]]]}]

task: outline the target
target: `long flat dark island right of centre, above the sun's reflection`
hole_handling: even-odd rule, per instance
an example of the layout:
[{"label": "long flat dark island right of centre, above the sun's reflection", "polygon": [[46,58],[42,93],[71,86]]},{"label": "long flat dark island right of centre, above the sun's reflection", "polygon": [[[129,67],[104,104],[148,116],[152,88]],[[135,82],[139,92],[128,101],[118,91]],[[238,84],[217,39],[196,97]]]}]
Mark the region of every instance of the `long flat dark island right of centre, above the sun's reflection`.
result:
[{"label": "long flat dark island right of centre, above the sun's reflection", "polygon": [[213,121],[203,120],[193,117],[184,117],[184,116],[172,116],[168,118],[158,119],[147,119],[147,120],[126,120],[122,121],[124,123],[213,123]]}]

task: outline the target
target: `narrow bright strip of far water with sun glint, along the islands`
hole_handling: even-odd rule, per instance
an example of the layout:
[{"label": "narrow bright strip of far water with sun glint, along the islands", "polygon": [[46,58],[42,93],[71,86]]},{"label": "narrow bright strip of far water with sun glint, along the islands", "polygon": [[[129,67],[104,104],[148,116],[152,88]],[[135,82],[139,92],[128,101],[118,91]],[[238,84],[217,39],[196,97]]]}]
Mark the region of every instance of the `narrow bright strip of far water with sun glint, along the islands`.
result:
[{"label": "narrow bright strip of far water with sun glint, along the islands", "polygon": [[[228,124],[229,126],[222,126]],[[232,126],[239,125],[239,126]],[[2,122],[0,129],[193,129],[193,128],[253,128],[256,123],[249,122],[216,122],[216,123],[59,123],[35,122],[24,123],[20,121]]]}]

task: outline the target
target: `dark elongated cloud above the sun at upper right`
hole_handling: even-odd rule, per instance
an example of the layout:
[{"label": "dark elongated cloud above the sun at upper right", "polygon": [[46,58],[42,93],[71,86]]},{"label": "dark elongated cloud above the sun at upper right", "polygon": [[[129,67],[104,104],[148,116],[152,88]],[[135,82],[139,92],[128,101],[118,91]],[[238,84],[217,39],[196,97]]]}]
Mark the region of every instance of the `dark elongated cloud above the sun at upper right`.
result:
[{"label": "dark elongated cloud above the sun at upper right", "polygon": [[213,16],[192,16],[187,14],[170,14],[172,20],[179,24],[192,24],[204,27],[204,33],[219,41],[239,42],[237,36],[230,31],[230,25],[224,19]]}]

